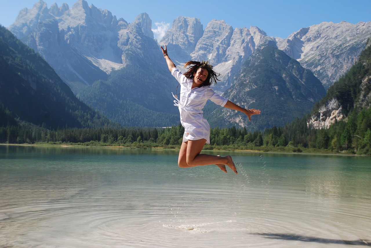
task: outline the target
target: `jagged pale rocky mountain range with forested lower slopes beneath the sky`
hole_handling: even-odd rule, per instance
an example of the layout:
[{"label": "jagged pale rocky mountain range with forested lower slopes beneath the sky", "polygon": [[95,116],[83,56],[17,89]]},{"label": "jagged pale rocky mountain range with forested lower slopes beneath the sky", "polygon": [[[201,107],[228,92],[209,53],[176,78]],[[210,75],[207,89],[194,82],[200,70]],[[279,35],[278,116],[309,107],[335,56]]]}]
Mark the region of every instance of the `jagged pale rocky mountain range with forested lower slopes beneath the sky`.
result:
[{"label": "jagged pale rocky mountain range with forested lower slopes beneath the sky", "polygon": [[[331,86],[357,61],[370,37],[371,22],[324,22],[303,28],[288,38],[278,38],[267,36],[258,27],[233,29],[222,20],[212,20],[204,29],[196,18],[178,17],[157,42],[146,13],[128,23],[112,16],[108,10],[89,7],[86,1],[79,0],[72,8],[67,4],[61,7],[53,4],[50,9],[45,2],[39,1],[32,9],[20,11],[8,29],[45,58],[84,103],[123,125],[178,123],[171,97],[176,83],[159,48],[160,44],[166,44],[170,57],[181,70],[187,60],[209,60],[221,74],[222,80],[214,87],[216,91],[250,108],[256,104],[262,113],[273,113],[267,118],[262,114],[259,121],[263,123],[254,125],[254,128],[263,128],[297,117],[301,111],[293,110],[295,104],[303,104],[300,108],[303,112],[310,109],[324,94],[324,88]],[[270,62],[290,61],[284,66],[285,73],[278,66],[274,67],[278,70],[275,74],[268,73],[264,64],[263,68],[259,67],[255,61],[263,61],[262,54],[272,54],[264,52],[264,47],[279,54],[279,58],[268,57]],[[254,90],[248,87],[257,84],[252,80],[259,75],[254,76],[252,70],[262,71],[262,75],[267,76],[260,79],[262,85],[255,91],[266,88],[260,94],[272,94],[272,97],[250,95]],[[286,74],[295,79],[285,78]],[[272,75],[277,77],[271,78]],[[308,80],[306,83],[303,77]],[[308,83],[309,78],[311,83]],[[284,86],[283,82],[288,81],[292,85]],[[310,86],[315,88],[308,90]],[[237,97],[237,91],[244,91],[246,95]],[[284,109],[285,114],[277,118],[282,102],[288,97],[293,99],[287,101],[291,107]],[[243,98],[250,100],[243,102]],[[224,125],[226,121],[244,125],[244,121],[232,117],[228,111],[218,111],[222,118],[212,120],[213,125]]]}]

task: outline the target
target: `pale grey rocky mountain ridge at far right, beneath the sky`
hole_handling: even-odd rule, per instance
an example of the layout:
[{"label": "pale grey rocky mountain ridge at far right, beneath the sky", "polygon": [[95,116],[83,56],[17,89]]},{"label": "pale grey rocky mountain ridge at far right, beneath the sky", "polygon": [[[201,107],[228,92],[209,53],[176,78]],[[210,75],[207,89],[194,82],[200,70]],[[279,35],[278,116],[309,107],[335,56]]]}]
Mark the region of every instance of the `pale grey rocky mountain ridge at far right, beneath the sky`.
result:
[{"label": "pale grey rocky mountain ridge at far right, beneath the sky", "polygon": [[358,60],[371,34],[371,21],[322,22],[276,38],[277,46],[311,70],[328,88]]}]

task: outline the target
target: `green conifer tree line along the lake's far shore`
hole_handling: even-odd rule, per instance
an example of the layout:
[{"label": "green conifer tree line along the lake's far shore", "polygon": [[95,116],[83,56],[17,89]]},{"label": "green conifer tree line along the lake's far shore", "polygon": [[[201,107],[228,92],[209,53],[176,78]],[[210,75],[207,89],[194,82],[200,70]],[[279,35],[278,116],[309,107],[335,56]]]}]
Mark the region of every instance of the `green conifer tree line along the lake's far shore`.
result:
[{"label": "green conifer tree line along the lake's far shore", "polygon": [[[246,128],[211,128],[210,150],[258,150],[283,152],[324,152],[371,155],[371,108],[350,116],[329,129],[311,129],[305,118],[284,127],[248,132]],[[74,144],[137,148],[180,148],[184,128],[47,128],[26,125],[0,127],[0,143]]]}]

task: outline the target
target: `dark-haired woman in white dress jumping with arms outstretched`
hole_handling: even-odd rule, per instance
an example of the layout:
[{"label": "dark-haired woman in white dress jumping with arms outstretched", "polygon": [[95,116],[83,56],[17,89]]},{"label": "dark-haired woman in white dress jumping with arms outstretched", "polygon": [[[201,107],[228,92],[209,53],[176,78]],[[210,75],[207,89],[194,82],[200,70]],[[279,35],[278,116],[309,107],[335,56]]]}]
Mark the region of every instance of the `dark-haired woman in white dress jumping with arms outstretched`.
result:
[{"label": "dark-haired woman in white dress jumping with arms outstretched", "polygon": [[[260,114],[260,110],[242,108],[211,89],[211,83],[216,84],[219,80],[209,62],[188,61],[184,67],[190,66],[188,71],[182,74],[167,54],[167,48],[161,47],[167,66],[180,84],[180,93],[173,94],[174,105],[178,106],[180,122],[184,127],[183,142],[180,147],[178,165],[181,168],[196,167],[200,165],[216,164],[222,171],[227,172],[226,165],[236,174],[237,169],[230,155],[226,157],[200,154],[205,143],[210,144],[210,125],[202,115],[202,109],[206,101],[210,99],[214,103],[226,108],[241,111],[249,117]],[[178,95],[180,99],[178,99]]]}]

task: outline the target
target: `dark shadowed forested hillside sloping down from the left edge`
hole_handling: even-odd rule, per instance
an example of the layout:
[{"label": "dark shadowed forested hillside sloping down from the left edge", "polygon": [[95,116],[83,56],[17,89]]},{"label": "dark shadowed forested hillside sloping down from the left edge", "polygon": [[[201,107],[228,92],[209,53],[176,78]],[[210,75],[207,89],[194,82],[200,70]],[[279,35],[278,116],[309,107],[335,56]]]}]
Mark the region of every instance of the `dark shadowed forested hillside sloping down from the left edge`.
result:
[{"label": "dark shadowed forested hillside sloping down from the left edge", "polygon": [[0,26],[0,125],[14,118],[47,128],[115,125],[78,100],[52,67]]}]

